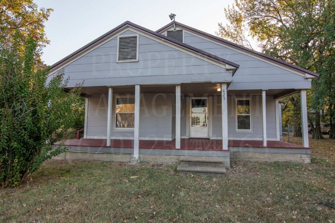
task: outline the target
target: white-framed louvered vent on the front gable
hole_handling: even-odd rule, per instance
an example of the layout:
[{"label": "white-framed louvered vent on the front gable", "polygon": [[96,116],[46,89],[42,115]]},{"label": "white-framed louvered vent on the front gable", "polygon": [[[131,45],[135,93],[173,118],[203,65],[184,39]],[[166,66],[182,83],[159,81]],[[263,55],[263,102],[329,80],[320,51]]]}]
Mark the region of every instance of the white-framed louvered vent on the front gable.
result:
[{"label": "white-framed louvered vent on the front gable", "polygon": [[117,63],[138,62],[139,35],[118,36]]}]

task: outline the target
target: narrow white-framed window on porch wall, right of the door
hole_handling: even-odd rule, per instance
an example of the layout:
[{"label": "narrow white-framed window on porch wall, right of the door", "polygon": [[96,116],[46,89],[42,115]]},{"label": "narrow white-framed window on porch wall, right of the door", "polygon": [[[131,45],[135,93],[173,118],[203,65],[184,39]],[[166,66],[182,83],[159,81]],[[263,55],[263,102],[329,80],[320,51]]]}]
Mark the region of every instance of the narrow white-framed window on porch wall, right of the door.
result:
[{"label": "narrow white-framed window on porch wall, right of the door", "polygon": [[236,98],[236,131],[252,132],[251,98]]}]

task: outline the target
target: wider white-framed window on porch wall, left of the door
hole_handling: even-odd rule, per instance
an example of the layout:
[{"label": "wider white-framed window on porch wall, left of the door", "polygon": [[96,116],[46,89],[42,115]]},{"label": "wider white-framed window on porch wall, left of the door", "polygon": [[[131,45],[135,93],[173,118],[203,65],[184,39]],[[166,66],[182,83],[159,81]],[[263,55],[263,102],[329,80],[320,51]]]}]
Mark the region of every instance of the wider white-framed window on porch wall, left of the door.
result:
[{"label": "wider white-framed window on porch wall, left of the door", "polygon": [[115,120],[114,129],[134,130],[135,123],[135,97],[115,97]]}]

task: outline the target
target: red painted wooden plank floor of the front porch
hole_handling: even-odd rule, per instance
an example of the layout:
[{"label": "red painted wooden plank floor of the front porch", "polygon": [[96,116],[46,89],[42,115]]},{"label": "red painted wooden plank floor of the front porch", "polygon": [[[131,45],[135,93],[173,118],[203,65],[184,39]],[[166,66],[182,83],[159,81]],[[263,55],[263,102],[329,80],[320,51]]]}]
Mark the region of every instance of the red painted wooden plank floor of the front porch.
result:
[{"label": "red painted wooden plank floor of the front porch", "polygon": [[[111,146],[106,145],[106,139],[75,139],[64,142],[65,146],[91,146],[91,147],[112,147],[112,148],[133,148],[132,139],[112,139]],[[60,142],[56,142],[59,145]],[[176,149],[176,140],[140,140],[140,149]],[[222,149],[222,140],[207,138],[181,139],[181,150],[205,150],[205,151],[229,151]],[[228,140],[228,147],[258,147],[258,148],[294,148],[303,149],[296,145],[283,141],[267,141],[267,147],[263,146],[261,140]]]}]

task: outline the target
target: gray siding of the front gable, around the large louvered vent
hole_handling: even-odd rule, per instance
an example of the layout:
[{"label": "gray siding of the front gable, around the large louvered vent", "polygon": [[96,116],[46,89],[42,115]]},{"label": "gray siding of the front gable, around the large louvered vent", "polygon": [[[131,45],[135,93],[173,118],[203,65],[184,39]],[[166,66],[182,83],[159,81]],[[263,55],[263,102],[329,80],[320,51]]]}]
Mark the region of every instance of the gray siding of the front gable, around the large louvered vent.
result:
[{"label": "gray siding of the front gable, around the large louvered vent", "polygon": [[[130,30],[120,34],[133,33]],[[231,80],[231,71],[139,35],[139,61],[116,63],[117,37],[67,65],[69,87],[189,83],[191,78]],[[56,73],[56,72],[55,72]]]}]

